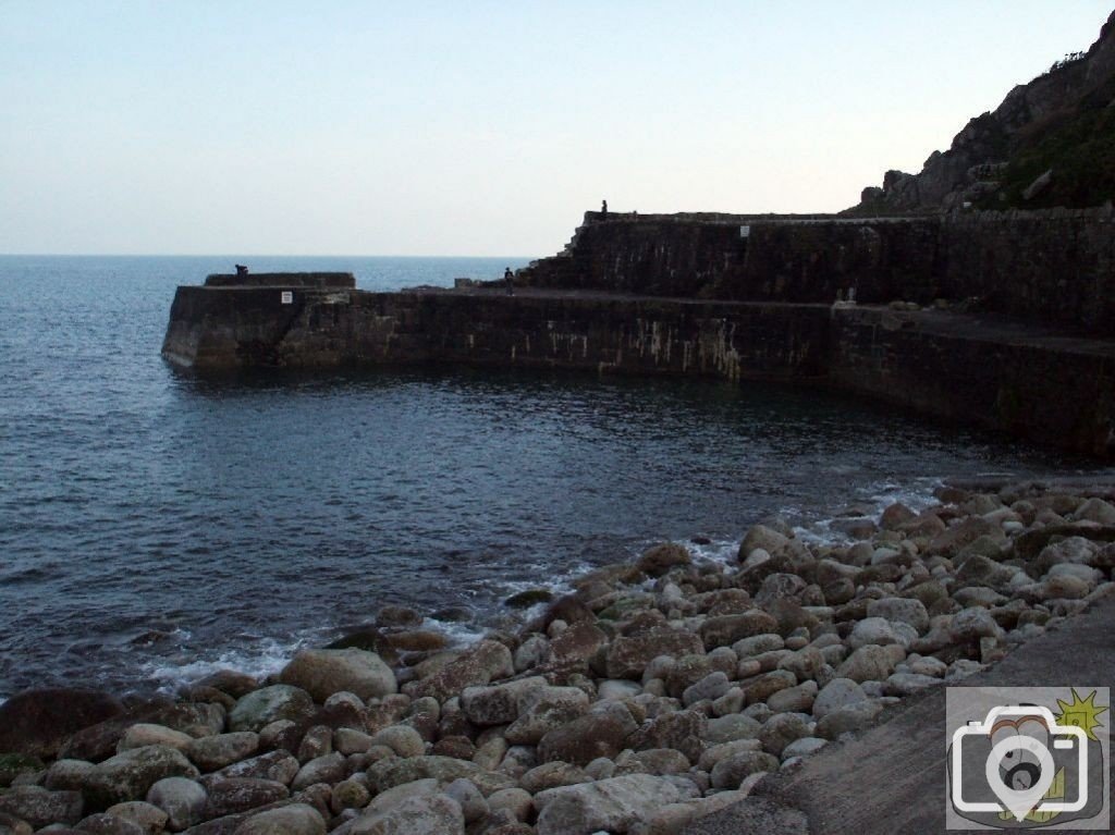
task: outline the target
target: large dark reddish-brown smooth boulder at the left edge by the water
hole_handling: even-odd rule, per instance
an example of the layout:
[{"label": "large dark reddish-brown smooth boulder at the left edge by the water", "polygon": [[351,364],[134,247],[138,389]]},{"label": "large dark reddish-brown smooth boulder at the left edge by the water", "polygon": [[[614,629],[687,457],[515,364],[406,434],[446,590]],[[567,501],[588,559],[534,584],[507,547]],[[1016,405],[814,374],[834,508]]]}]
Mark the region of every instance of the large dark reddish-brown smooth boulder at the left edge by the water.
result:
[{"label": "large dark reddish-brown smooth boulder at the left edge by the water", "polygon": [[55,757],[72,734],[124,711],[119,699],[96,690],[27,690],[0,705],[0,751]]}]

